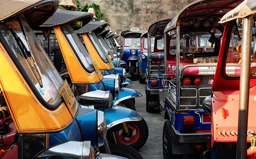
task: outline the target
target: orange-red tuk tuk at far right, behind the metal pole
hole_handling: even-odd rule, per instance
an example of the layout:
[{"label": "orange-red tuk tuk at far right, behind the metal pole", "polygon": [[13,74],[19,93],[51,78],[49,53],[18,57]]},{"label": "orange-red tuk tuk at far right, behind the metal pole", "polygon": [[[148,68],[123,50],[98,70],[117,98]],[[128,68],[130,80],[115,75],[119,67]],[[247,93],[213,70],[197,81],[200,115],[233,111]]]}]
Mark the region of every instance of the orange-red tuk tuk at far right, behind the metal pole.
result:
[{"label": "orange-red tuk tuk at far right, behind the metal pole", "polygon": [[243,1],[220,24],[225,29],[218,65],[203,104],[211,116],[211,145],[202,158],[255,158],[256,2]]}]

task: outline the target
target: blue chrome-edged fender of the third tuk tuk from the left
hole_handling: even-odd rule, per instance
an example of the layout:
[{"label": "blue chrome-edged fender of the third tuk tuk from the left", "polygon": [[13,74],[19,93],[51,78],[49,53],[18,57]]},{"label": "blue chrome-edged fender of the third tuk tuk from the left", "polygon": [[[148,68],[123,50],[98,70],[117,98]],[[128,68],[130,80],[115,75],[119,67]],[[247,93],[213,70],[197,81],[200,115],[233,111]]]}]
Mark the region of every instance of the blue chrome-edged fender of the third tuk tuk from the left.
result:
[{"label": "blue chrome-edged fender of the third tuk tuk from the left", "polygon": [[113,100],[113,104],[117,105],[122,100],[135,98],[135,97],[142,97],[142,94],[134,89],[122,87],[119,90],[118,98]]}]

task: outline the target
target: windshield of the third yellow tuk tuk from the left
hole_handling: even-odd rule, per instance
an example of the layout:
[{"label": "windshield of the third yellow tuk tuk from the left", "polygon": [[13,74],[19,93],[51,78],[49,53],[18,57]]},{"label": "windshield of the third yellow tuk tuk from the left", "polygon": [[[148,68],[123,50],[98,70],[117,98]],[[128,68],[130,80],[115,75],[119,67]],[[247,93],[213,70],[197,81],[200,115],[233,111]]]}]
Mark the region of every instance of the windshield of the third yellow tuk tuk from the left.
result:
[{"label": "windshield of the third yellow tuk tuk from the left", "polygon": [[97,38],[97,36],[95,35],[94,32],[89,33],[88,34],[92,43],[94,44],[100,58],[104,61],[104,63],[109,63],[109,60],[107,58],[108,55],[108,49],[106,49],[106,47],[104,47],[101,42],[99,41],[99,39]]}]

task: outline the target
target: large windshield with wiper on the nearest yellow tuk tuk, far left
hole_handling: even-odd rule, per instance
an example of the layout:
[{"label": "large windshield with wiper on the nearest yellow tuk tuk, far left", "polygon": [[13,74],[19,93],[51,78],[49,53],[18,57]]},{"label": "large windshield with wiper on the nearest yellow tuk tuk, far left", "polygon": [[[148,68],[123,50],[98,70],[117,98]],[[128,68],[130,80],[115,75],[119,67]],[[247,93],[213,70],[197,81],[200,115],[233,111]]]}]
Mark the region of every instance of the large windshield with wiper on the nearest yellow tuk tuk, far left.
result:
[{"label": "large windshield with wiper on the nearest yellow tuk tuk, far left", "polygon": [[24,19],[0,24],[2,36],[13,50],[10,55],[40,101],[49,109],[61,101],[59,87],[63,83],[44,48]]}]

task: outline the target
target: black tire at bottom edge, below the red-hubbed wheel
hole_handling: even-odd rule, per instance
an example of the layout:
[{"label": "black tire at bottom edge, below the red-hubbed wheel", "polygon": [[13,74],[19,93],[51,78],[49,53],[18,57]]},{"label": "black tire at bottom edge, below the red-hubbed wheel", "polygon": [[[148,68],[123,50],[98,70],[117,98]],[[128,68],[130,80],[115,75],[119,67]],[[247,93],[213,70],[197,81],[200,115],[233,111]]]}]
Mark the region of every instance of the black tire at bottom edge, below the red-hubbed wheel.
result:
[{"label": "black tire at bottom edge, below the red-hubbed wheel", "polygon": [[143,159],[141,154],[129,145],[112,143],[110,144],[110,149],[114,155],[119,155],[130,159]]}]

